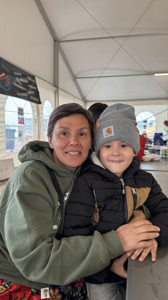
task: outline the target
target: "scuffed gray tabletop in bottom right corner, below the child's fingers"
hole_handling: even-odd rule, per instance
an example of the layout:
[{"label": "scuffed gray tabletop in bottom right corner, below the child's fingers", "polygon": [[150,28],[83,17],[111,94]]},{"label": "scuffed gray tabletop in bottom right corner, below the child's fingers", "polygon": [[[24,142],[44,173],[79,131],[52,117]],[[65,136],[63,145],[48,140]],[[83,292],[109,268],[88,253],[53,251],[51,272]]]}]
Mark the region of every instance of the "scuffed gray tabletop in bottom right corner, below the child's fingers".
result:
[{"label": "scuffed gray tabletop in bottom right corner, below the child's fingers", "polygon": [[143,262],[129,258],[126,300],[168,299],[168,245],[159,247],[157,259]]}]

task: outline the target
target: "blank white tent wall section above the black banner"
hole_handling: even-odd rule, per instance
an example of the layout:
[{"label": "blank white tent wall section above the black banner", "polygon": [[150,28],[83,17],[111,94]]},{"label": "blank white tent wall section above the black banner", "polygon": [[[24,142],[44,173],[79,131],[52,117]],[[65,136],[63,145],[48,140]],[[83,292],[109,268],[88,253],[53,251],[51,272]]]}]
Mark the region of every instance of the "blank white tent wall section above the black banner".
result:
[{"label": "blank white tent wall section above the black banner", "polygon": [[0,56],[54,83],[54,40],[34,0],[0,1]]}]

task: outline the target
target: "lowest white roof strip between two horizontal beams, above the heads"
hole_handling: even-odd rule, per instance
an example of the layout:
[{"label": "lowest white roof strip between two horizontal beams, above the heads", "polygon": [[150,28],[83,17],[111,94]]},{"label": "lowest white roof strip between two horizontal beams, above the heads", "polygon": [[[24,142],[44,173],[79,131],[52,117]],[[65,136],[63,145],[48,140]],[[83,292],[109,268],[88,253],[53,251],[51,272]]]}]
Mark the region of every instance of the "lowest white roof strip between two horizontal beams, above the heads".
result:
[{"label": "lowest white roof strip between two horizontal beams, above the heads", "polygon": [[[78,79],[82,90],[87,90],[89,80]],[[84,96],[86,100],[90,101],[116,100],[120,102],[134,99],[167,98],[167,92],[151,76],[100,77]]]}]

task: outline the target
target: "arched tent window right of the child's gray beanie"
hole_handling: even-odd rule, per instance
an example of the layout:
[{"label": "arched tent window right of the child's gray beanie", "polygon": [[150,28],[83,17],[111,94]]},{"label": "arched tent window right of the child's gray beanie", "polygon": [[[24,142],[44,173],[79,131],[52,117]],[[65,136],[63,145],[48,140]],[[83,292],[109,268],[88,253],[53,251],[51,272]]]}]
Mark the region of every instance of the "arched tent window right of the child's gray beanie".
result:
[{"label": "arched tent window right of the child's gray beanie", "polygon": [[146,133],[148,139],[153,139],[156,131],[156,118],[150,112],[139,113],[136,117],[140,134]]}]

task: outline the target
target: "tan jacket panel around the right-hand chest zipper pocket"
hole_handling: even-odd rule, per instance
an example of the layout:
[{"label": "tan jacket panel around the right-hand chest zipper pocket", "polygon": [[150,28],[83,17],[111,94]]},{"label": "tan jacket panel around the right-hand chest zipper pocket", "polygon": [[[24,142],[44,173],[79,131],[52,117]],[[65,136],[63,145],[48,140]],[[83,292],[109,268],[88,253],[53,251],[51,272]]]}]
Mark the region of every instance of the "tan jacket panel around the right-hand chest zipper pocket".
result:
[{"label": "tan jacket panel around the right-hand chest zipper pocket", "polygon": [[129,186],[125,187],[127,208],[128,208],[127,223],[129,222],[129,219],[133,213],[133,208],[134,208],[134,200],[133,200],[133,195],[132,195],[132,190],[131,190],[132,188],[134,188],[137,193],[137,195],[136,195],[137,196],[137,204],[136,204],[135,209],[138,208],[140,205],[144,204],[144,202],[148,198],[149,192],[150,192],[150,187],[140,187],[140,188],[129,187]]}]

